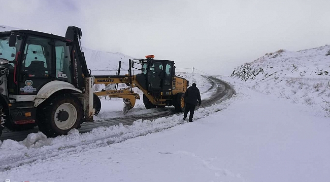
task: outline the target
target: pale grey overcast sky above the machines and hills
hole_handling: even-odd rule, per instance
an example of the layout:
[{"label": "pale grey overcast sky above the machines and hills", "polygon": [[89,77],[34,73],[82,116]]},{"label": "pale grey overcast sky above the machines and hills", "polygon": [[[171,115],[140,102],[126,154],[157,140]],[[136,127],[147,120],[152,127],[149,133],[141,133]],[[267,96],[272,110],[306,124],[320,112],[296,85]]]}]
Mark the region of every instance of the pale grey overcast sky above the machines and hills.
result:
[{"label": "pale grey overcast sky above the machines and hills", "polygon": [[[175,60],[229,75],[279,49],[330,43],[329,0],[0,0],[0,24],[64,36],[82,29],[85,47]],[[189,70],[186,70],[189,71]],[[196,71],[199,72],[199,71]],[[200,72],[201,73],[201,72]]]}]

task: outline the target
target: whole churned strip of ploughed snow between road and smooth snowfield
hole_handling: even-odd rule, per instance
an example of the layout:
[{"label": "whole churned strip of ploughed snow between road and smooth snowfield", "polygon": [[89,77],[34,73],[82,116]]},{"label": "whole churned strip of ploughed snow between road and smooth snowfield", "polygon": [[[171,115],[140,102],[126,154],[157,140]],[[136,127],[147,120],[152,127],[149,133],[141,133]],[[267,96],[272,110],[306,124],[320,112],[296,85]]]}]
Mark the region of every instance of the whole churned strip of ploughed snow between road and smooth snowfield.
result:
[{"label": "whole churned strip of ploughed snow between road and smooth snowfield", "polygon": [[[235,97],[235,96],[234,96]],[[198,108],[194,114],[194,121],[222,110],[227,101],[221,104],[214,104],[208,108]],[[150,120],[137,120],[132,125],[113,125],[110,127],[97,127],[86,133],[79,133],[78,130],[71,130],[68,135],[57,136],[56,138],[45,138],[41,132],[31,133],[22,142],[5,140],[0,146],[0,170],[18,167],[22,163],[42,161],[52,156],[69,155],[93,149],[96,147],[107,146],[119,143],[137,136],[159,132],[164,129],[172,128],[180,124],[186,124],[183,113],[174,114],[170,117],[161,117]],[[187,123],[189,124],[189,122]],[[19,161],[12,160],[19,158]],[[23,161],[23,162],[22,162]]]}]

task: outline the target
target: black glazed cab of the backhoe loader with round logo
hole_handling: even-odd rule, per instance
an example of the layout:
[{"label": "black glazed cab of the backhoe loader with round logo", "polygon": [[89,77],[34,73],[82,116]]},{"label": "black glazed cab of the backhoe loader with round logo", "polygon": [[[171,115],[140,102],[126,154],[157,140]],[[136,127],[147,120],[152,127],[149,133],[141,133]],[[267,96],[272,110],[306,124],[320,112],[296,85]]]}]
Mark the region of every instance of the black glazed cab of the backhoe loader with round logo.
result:
[{"label": "black glazed cab of the backhoe loader with round logo", "polygon": [[10,98],[26,101],[27,96],[37,95],[53,80],[73,83],[69,42],[64,37],[31,30],[1,32],[0,59],[9,70]]}]

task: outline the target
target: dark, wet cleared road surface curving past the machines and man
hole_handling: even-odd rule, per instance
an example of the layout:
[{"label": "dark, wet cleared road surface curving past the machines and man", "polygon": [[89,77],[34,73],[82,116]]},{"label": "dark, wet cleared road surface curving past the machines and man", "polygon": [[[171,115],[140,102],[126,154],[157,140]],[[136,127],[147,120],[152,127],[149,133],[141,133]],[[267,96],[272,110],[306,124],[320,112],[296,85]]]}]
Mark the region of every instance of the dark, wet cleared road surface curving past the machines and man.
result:
[{"label": "dark, wet cleared road surface curving past the machines and man", "polygon": [[[206,95],[207,99],[203,100],[203,104],[201,107],[207,107],[216,102],[226,100],[232,97],[233,94],[235,94],[235,90],[231,88],[228,83],[223,82],[222,80],[214,76],[204,75],[204,77],[210,82],[211,86],[207,90],[205,90],[205,92],[202,93],[204,97]],[[119,103],[118,102],[111,103],[111,102],[107,104],[116,105],[117,107],[122,105],[122,102]],[[149,109],[149,110],[145,110],[144,108],[142,108],[142,110],[141,108],[134,108],[125,116],[122,116],[121,112],[120,115],[108,113],[106,115],[107,117],[106,119],[100,119],[90,123],[83,123],[79,131],[88,132],[91,131],[93,128],[99,126],[107,127],[112,125],[118,125],[119,123],[122,123],[123,125],[132,124],[134,121],[138,119],[153,120],[159,117],[171,116],[175,113],[177,113],[177,111],[175,111],[174,107],[157,108],[157,109]],[[26,138],[26,136],[29,133],[31,132],[37,133],[38,131],[39,130],[37,128],[27,131],[14,131],[14,132],[7,130],[4,131],[0,139],[1,140],[11,139],[16,141],[22,141]]]}]

